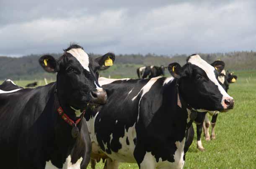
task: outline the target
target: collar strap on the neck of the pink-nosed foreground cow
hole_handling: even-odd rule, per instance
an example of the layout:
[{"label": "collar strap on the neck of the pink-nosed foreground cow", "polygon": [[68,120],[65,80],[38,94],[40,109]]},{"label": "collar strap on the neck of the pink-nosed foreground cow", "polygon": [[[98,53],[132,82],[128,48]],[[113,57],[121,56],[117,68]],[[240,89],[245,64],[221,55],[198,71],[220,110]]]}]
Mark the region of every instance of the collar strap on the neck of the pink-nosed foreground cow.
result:
[{"label": "collar strap on the neck of the pink-nosed foreground cow", "polygon": [[[191,111],[191,113],[190,113],[190,115],[189,115],[189,122],[187,123],[187,129],[189,129],[189,127],[192,125],[192,123],[193,123],[193,121],[194,121],[194,119],[196,119],[196,117],[197,117],[197,111],[194,111],[193,109],[192,109],[192,107],[189,105],[189,103],[187,103],[184,99],[183,99],[183,97],[181,96],[181,93],[179,92],[179,79],[177,79],[177,81],[176,81],[176,89],[177,89],[177,98],[180,100],[180,102],[181,102],[181,108],[183,109],[183,111],[187,111],[186,110],[186,108],[188,108],[190,111]],[[177,100],[178,100],[177,99]]]}]

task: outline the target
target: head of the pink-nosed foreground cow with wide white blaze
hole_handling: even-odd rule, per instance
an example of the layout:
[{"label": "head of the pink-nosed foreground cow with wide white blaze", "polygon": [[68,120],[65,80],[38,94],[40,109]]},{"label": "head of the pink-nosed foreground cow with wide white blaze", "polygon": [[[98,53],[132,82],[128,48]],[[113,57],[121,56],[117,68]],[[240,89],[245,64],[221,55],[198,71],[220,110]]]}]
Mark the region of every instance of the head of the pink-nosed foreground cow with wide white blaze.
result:
[{"label": "head of the pink-nosed foreground cow with wide white blaze", "polygon": [[171,63],[168,70],[179,79],[181,96],[192,108],[197,111],[224,111],[234,106],[234,99],[217,81],[224,66],[222,61],[210,65],[199,55],[191,55],[183,67]]}]

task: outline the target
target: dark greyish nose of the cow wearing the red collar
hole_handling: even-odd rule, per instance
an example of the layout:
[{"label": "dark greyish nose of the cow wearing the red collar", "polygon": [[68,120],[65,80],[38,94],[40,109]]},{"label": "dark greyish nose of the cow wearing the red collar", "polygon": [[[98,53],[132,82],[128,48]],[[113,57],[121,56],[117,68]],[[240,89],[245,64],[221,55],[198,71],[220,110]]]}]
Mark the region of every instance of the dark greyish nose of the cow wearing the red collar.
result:
[{"label": "dark greyish nose of the cow wearing the red collar", "polygon": [[103,88],[97,88],[95,91],[90,92],[91,101],[98,104],[106,104],[107,93]]}]

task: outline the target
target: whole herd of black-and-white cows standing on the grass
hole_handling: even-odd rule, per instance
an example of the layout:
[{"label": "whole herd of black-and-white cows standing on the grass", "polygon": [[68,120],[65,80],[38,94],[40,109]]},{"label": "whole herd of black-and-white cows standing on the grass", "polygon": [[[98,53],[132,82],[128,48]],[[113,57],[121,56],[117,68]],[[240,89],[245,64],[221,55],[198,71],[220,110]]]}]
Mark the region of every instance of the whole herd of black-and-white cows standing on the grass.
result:
[{"label": "whole herd of black-and-white cows standing on the grass", "polygon": [[[104,169],[118,169],[120,162],[140,169],[183,168],[194,138],[192,122],[203,151],[202,129],[209,140],[211,124],[215,139],[218,113],[234,107],[227,91],[237,76],[225,72],[222,61],[209,64],[194,54],[184,66],[138,68],[139,79],[99,78],[98,71],[114,61],[113,53],[91,58],[70,45],[58,59],[39,59],[45,71],[57,74],[56,82],[36,88],[3,82],[1,167],[85,169],[90,159],[92,168],[103,159]],[[165,68],[170,77],[160,76]]]}]

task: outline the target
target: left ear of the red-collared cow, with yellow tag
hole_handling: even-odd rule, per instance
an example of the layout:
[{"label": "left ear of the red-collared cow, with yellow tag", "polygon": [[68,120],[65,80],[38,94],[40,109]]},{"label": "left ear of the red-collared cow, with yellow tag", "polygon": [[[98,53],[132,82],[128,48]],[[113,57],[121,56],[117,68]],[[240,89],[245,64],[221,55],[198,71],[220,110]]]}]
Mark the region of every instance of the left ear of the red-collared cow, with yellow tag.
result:
[{"label": "left ear of the red-collared cow, with yellow tag", "polygon": [[49,73],[55,73],[59,71],[59,63],[51,55],[43,55],[39,58],[39,64]]}]

